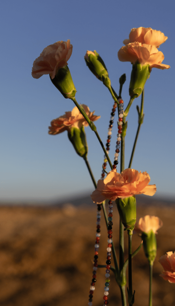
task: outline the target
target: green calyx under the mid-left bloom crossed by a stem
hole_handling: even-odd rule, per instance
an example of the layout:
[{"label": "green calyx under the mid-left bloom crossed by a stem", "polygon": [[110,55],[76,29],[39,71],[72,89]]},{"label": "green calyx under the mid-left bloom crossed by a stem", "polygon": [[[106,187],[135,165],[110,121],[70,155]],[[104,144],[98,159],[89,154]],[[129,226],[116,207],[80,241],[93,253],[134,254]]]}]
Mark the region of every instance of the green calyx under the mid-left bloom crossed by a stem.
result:
[{"label": "green calyx under the mid-left bloom crossed by a stem", "polygon": [[70,132],[68,132],[68,137],[77,154],[83,158],[86,157],[88,155],[88,144],[86,141],[84,126],[80,129],[72,127]]}]

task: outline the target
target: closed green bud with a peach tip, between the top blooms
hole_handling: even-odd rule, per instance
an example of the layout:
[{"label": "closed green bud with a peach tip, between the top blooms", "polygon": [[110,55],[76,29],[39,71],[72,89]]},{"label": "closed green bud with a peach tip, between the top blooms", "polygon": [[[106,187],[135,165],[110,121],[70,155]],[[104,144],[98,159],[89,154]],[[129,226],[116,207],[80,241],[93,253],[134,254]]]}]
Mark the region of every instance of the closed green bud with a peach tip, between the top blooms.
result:
[{"label": "closed green bud with a peach tip, between the top blooms", "polygon": [[91,72],[100,81],[102,81],[106,87],[111,86],[111,81],[109,79],[107,68],[102,58],[99,56],[99,54],[95,50],[94,52],[87,51],[84,59],[85,59],[86,65],[89,67]]}]

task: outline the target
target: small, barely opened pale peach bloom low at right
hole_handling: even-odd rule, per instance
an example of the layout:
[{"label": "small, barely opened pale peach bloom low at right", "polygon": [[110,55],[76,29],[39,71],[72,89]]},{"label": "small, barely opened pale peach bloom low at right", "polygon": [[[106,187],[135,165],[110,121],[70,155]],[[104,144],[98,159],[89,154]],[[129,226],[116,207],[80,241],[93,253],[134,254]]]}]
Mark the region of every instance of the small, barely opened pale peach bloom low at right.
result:
[{"label": "small, barely opened pale peach bloom low at right", "polygon": [[134,230],[137,233],[149,233],[150,230],[153,233],[157,234],[157,230],[163,226],[163,222],[155,216],[146,215],[143,218],[140,218],[138,223],[135,225]]}]

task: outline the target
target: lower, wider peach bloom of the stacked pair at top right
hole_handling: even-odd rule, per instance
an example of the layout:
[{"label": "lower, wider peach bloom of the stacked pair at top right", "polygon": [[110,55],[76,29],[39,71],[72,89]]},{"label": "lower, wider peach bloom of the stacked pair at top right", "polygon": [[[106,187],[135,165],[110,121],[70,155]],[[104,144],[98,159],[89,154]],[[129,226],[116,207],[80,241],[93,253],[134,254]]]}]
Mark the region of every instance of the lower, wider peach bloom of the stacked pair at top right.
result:
[{"label": "lower, wider peach bloom of the stacked pair at top right", "polygon": [[142,66],[149,65],[150,72],[153,67],[159,69],[168,69],[169,65],[162,64],[164,55],[155,46],[141,44],[138,42],[129,43],[121,47],[118,51],[118,58],[121,62],[139,62]]}]

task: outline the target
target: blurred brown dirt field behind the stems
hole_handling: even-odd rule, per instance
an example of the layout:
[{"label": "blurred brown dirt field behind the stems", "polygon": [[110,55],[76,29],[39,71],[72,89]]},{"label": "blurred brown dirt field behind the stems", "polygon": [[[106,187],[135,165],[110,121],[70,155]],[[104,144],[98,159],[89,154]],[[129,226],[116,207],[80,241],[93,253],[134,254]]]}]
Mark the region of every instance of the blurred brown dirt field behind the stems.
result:
[{"label": "blurred brown dirt field behind the stems", "polygon": [[[175,251],[175,207],[138,207],[137,216],[155,215],[157,235],[153,267],[153,306],[175,305],[175,284],[164,281],[160,256]],[[119,217],[113,207],[113,241],[118,255]],[[87,306],[93,270],[96,205],[62,208],[0,207],[0,306]],[[125,233],[127,258],[127,233]],[[107,230],[102,215],[98,263],[105,264]],[[133,235],[133,252],[141,238]],[[112,263],[113,265],[113,260]],[[143,249],[133,258],[135,306],[148,305],[148,263]],[[120,306],[120,290],[111,271],[109,305]],[[102,306],[105,268],[98,268],[93,306]]]}]

